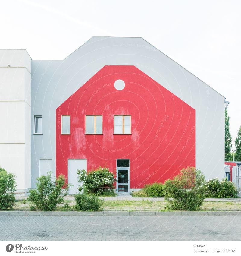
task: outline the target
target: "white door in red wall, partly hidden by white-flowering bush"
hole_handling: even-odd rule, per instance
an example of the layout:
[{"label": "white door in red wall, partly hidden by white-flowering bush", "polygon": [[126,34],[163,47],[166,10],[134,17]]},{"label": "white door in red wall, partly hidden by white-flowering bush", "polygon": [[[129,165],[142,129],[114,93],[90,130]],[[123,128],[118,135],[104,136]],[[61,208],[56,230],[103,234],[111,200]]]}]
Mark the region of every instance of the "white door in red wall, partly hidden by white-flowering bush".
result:
[{"label": "white door in red wall, partly hidden by white-flowering bush", "polygon": [[74,185],[69,189],[69,195],[77,194],[79,192],[78,186],[82,185],[77,182],[78,175],[76,170],[87,170],[87,159],[68,159],[68,183]]}]

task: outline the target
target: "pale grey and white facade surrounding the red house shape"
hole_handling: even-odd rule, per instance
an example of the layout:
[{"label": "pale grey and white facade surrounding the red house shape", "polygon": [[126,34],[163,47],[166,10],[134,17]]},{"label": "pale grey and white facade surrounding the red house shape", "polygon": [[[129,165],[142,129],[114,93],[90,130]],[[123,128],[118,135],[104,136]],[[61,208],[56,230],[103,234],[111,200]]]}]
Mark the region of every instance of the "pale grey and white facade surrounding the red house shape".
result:
[{"label": "pale grey and white facade surrounding the red house shape", "polygon": [[56,108],[105,65],[136,66],[195,109],[196,168],[207,179],[224,177],[224,96],[142,38],[92,37],[64,60],[0,50],[0,166],[16,174],[18,193],[55,173]]}]

